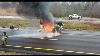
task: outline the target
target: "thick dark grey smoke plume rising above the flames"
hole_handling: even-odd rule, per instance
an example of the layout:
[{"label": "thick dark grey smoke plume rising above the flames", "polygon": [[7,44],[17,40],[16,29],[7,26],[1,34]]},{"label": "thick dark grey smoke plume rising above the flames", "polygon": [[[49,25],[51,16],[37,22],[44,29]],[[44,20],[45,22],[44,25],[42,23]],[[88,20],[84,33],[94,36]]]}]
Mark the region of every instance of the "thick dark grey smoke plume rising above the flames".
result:
[{"label": "thick dark grey smoke plume rising above the flames", "polygon": [[45,19],[54,23],[49,8],[50,2],[19,2],[16,9],[17,13],[21,16],[31,19],[33,19],[33,17],[39,17],[40,19]]}]

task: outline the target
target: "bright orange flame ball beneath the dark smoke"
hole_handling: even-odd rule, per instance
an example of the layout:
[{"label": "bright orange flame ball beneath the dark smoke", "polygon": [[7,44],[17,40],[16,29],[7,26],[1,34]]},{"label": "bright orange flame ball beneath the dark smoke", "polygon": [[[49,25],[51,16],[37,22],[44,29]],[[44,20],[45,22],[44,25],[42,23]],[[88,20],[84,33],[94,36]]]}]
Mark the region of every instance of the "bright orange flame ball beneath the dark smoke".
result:
[{"label": "bright orange flame ball beneath the dark smoke", "polygon": [[54,28],[54,25],[47,20],[42,20],[42,26],[43,32],[52,32]]}]

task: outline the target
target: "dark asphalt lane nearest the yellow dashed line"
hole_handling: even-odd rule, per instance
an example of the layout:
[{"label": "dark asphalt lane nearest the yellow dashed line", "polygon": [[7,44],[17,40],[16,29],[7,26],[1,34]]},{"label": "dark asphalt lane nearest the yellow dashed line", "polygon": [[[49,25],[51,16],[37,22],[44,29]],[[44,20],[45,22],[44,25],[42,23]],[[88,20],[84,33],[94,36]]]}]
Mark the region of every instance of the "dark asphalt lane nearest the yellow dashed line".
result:
[{"label": "dark asphalt lane nearest the yellow dashed line", "polygon": [[53,48],[53,49],[62,49],[62,50],[75,50],[75,51],[100,53],[100,50],[99,50],[100,42],[92,42],[92,41],[84,41],[84,40],[83,41],[69,40],[69,39],[62,40],[62,39],[60,38],[55,41],[32,39],[32,38],[29,38],[29,39],[23,38],[23,39],[18,39],[18,40],[9,39],[9,44],[40,47],[40,48]]}]

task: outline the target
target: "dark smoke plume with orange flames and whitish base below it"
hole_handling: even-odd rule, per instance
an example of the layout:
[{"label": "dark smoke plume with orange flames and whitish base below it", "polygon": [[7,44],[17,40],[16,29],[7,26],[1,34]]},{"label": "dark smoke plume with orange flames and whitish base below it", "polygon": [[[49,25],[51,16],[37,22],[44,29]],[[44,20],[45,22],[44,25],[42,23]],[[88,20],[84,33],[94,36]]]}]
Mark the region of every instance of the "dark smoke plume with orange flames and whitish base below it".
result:
[{"label": "dark smoke plume with orange flames and whitish base below it", "polygon": [[16,8],[18,15],[25,16],[29,19],[39,17],[42,35],[41,38],[52,38],[60,35],[59,32],[54,31],[54,17],[49,11],[50,2],[20,2]]}]

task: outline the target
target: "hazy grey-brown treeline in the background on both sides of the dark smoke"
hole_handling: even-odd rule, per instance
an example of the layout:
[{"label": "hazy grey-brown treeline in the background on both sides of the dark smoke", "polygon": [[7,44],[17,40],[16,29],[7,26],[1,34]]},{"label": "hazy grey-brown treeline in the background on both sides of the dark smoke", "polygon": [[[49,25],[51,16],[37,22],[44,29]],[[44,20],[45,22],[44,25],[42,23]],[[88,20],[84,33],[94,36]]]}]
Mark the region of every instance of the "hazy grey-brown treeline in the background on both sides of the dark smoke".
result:
[{"label": "hazy grey-brown treeline in the background on both sides of the dark smoke", "polygon": [[[17,4],[18,2],[0,2],[0,15],[16,15],[16,9],[11,8],[16,8]],[[51,2],[50,11],[55,17],[75,13],[83,17],[100,18],[100,2]]]}]

